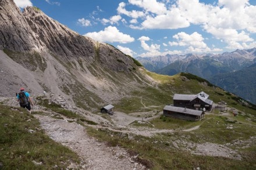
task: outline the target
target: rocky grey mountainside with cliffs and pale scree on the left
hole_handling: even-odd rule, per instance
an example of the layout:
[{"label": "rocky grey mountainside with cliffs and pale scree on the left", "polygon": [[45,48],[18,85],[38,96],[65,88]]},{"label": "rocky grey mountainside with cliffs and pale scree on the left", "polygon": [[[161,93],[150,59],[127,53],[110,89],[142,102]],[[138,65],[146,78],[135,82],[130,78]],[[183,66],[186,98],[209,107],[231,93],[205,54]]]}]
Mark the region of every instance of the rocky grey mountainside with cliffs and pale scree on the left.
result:
[{"label": "rocky grey mountainside with cliffs and pale scree on the left", "polygon": [[77,34],[38,8],[20,12],[13,0],[0,0],[0,23],[2,96],[23,86],[32,95],[46,91],[95,108],[150,83],[131,57]]}]

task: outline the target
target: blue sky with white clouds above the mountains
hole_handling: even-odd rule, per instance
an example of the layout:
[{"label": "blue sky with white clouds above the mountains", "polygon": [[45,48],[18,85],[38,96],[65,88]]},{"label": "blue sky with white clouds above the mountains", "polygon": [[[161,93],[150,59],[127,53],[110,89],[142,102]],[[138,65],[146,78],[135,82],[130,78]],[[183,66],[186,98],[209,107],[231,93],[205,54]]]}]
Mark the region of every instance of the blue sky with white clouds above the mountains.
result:
[{"label": "blue sky with white clouds above the mountains", "polygon": [[256,0],[14,1],[134,58],[256,47]]}]

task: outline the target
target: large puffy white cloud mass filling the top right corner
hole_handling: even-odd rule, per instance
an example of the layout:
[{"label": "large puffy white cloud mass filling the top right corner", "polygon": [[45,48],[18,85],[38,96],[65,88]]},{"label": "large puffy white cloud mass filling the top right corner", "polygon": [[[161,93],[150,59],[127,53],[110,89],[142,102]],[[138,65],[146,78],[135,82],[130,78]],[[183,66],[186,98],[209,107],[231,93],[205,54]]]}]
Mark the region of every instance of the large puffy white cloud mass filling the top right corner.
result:
[{"label": "large puffy white cloud mass filling the top right corner", "polygon": [[177,8],[190,23],[200,24],[215,38],[223,39],[229,48],[239,46],[239,42],[253,41],[248,32],[256,32],[256,6],[248,0],[219,0],[218,5],[205,5],[198,0],[177,1]]}]

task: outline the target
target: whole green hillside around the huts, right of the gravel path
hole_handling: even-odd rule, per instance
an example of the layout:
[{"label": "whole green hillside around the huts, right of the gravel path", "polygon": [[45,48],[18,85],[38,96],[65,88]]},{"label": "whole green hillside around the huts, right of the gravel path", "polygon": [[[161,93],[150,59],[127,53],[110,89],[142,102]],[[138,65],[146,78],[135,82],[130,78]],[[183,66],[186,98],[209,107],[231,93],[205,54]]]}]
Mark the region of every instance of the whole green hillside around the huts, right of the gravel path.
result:
[{"label": "whole green hillside around the huts, right of the gravel path", "polygon": [[[186,77],[174,75],[158,75],[145,71],[160,84],[157,88],[151,86],[135,91],[129,97],[116,105],[116,110],[125,113],[154,111],[161,113],[165,104],[172,103],[174,93],[198,93],[204,91],[209,94],[209,99],[218,103],[223,100],[230,108],[237,108],[239,115],[233,116],[231,111],[221,113],[214,109],[206,114],[202,121],[191,122],[177,120],[161,115],[150,121],[150,124],[134,122],[132,126],[145,128],[173,129],[172,133],[159,133],[150,138],[145,136],[127,135],[106,129],[90,129],[89,132],[99,140],[108,141],[113,146],[119,145],[130,150],[130,153],[139,155],[141,162],[151,169],[255,169],[256,157],[256,111],[255,106],[244,106],[240,98],[225,92],[211,84],[203,83],[190,74]],[[201,80],[201,79],[200,79]],[[160,106],[160,107],[152,107]],[[141,118],[143,115],[138,115]],[[147,115],[148,116],[148,115]],[[154,116],[154,115],[151,115]],[[195,126],[200,128],[194,131],[184,131]],[[232,128],[230,128],[232,127]],[[112,137],[110,137],[112,136]],[[214,143],[218,147],[227,147],[236,151],[235,158],[211,157],[196,155],[191,152],[196,147]],[[211,145],[209,145],[211,147]],[[207,150],[207,149],[206,149]],[[236,160],[237,156],[237,160]],[[241,156],[239,160],[238,157]]]}]

